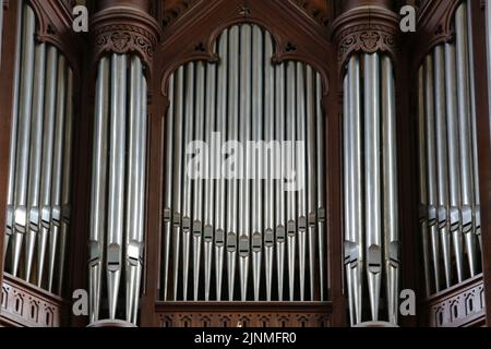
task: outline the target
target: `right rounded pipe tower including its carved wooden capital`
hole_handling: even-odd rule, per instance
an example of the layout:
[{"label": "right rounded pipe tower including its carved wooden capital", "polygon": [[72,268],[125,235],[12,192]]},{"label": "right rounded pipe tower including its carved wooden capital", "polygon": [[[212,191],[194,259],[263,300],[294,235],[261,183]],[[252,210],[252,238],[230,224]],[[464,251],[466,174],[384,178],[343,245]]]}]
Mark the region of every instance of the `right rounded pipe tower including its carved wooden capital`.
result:
[{"label": "right rounded pipe tower including its carved wooden capital", "polygon": [[[351,325],[381,320],[397,324],[400,246],[393,63],[398,17],[392,2],[346,1],[333,24],[345,91],[345,270]],[[370,312],[363,311],[367,306]],[[382,308],[387,309],[386,318],[380,317]],[[363,318],[363,313],[371,316]]]}]

